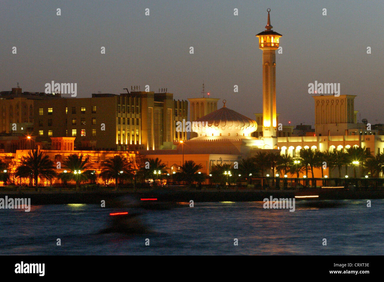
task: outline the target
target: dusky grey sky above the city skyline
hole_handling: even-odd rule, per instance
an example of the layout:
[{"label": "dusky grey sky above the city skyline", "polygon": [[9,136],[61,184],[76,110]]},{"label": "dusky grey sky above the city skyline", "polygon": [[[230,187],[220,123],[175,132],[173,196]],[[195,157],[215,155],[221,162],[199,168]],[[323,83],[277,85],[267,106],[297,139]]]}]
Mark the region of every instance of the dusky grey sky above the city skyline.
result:
[{"label": "dusky grey sky above the city skyline", "polygon": [[149,85],[185,100],[202,97],[204,81],[218,108],[226,99],[228,108],[254,118],[262,112],[255,35],[265,30],[267,8],[283,35],[282,54],[276,51],[279,122],[314,125],[308,84],[318,81],[340,83],[341,95],[357,95],[361,119],[384,123],[383,1],[1,0],[0,91],[19,82],[23,91],[44,92],[53,80],[77,83],[77,97]]}]

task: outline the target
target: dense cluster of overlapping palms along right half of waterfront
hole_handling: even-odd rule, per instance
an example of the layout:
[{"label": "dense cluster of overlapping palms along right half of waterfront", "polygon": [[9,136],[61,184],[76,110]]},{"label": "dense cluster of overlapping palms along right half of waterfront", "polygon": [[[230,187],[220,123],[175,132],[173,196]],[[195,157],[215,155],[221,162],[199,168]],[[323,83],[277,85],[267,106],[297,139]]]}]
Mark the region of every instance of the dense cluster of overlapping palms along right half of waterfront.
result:
[{"label": "dense cluster of overlapping palms along right half of waterfront", "polygon": [[321,176],[324,177],[324,169],[331,171],[338,168],[341,177],[342,168],[353,166],[354,177],[357,177],[356,168],[362,166],[365,172],[370,172],[371,177],[379,177],[384,172],[384,153],[372,156],[369,150],[361,147],[350,147],[343,150],[329,150],[326,152],[316,151],[310,148],[300,150],[300,157],[293,158],[289,154],[280,155],[278,152],[259,152],[255,157],[242,159],[235,165],[223,164],[212,167],[212,180],[223,182],[225,172],[232,170],[234,179],[248,180],[255,176],[288,175],[299,177],[308,172],[314,177],[314,168],[321,169]]}]

